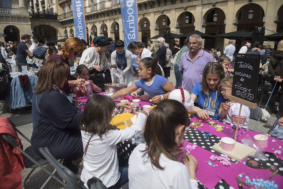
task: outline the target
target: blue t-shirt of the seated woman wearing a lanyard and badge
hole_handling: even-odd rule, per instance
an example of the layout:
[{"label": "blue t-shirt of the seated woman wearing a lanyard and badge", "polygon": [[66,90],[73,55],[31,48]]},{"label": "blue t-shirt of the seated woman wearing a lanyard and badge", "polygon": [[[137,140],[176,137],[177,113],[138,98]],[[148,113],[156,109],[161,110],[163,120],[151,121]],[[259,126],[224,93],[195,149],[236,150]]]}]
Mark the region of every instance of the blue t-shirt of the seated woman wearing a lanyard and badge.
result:
[{"label": "blue t-shirt of the seated woman wearing a lanyard and badge", "polygon": [[[226,100],[223,98],[222,94],[217,90],[215,91],[211,91],[209,90],[211,93],[212,98],[215,100],[216,99],[216,105],[218,106],[218,108],[220,108],[221,103],[226,102]],[[217,93],[217,97],[216,97],[216,93]],[[198,107],[201,109],[213,109],[215,110],[215,112],[218,111],[218,108],[214,105],[213,103],[213,99],[211,99],[211,96],[208,94],[206,95],[202,90],[201,90],[201,82],[197,83],[193,90],[192,90],[192,94],[195,94],[198,97]],[[217,120],[219,120],[218,117],[218,112],[215,113],[215,116],[210,116],[211,118],[215,118]]]}]

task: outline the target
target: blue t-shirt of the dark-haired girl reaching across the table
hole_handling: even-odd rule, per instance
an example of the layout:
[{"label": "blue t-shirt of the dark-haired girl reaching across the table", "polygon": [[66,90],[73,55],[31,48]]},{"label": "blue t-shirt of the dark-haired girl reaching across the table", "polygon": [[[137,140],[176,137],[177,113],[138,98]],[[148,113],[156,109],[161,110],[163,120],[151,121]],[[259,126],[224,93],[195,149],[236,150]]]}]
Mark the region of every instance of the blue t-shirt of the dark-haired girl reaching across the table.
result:
[{"label": "blue t-shirt of the dark-haired girl reaching across the table", "polygon": [[151,86],[147,86],[145,84],[145,79],[140,79],[137,82],[135,82],[134,84],[137,88],[141,88],[147,94],[149,94],[149,96],[151,98],[153,98],[156,95],[161,95],[161,94],[167,93],[167,91],[165,89],[163,89],[163,87],[164,87],[164,85],[166,84],[167,81],[168,81],[168,79],[166,79],[165,77],[155,74],[155,78],[154,78]]}]

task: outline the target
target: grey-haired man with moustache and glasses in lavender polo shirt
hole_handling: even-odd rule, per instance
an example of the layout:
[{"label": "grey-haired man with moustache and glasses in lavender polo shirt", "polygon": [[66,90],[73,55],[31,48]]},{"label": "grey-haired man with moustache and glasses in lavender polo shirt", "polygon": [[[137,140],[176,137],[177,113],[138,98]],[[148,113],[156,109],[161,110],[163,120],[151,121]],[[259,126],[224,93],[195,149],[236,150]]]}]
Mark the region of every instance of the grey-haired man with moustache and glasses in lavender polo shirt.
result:
[{"label": "grey-haired man with moustache and glasses in lavender polo shirt", "polygon": [[200,35],[193,34],[189,38],[189,51],[185,52],[180,61],[179,70],[183,74],[182,87],[191,92],[196,83],[201,82],[202,73],[208,62],[214,62],[213,56],[202,48]]}]

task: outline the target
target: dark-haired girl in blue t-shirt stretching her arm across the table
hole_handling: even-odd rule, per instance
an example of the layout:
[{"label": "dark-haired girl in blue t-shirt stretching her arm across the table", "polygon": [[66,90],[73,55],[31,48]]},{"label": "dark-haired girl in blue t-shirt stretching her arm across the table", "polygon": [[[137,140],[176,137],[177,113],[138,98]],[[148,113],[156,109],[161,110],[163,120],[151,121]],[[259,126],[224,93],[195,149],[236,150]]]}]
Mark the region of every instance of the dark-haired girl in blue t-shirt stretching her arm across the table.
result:
[{"label": "dark-haired girl in blue t-shirt stretching her arm across the table", "polygon": [[113,94],[113,99],[128,95],[139,88],[147,92],[154,103],[160,100],[168,99],[168,95],[175,87],[161,76],[160,67],[157,65],[159,58],[156,54],[151,54],[150,57],[143,58],[139,63],[140,80],[132,84],[132,86],[121,89]]}]

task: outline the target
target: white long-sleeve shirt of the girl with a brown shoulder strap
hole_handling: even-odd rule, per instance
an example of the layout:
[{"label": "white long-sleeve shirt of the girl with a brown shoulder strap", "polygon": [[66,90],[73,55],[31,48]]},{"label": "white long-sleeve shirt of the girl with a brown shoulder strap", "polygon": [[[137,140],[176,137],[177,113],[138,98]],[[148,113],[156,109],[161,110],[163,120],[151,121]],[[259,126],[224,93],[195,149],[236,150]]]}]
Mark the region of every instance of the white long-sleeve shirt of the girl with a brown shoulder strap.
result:
[{"label": "white long-sleeve shirt of the girl with a brown shoulder strap", "polygon": [[[87,186],[87,181],[96,177],[108,188],[116,184],[120,178],[119,162],[117,157],[117,144],[138,135],[145,124],[147,116],[138,114],[138,118],[131,127],[124,130],[109,130],[102,137],[93,135],[89,142],[85,158],[83,160],[83,170],[81,180]],[[83,149],[91,137],[91,133],[81,131]]]}]

